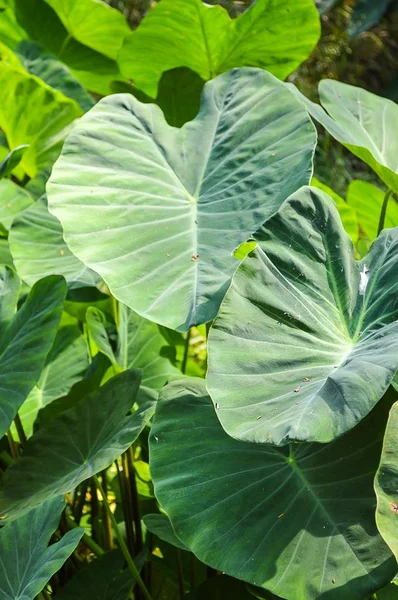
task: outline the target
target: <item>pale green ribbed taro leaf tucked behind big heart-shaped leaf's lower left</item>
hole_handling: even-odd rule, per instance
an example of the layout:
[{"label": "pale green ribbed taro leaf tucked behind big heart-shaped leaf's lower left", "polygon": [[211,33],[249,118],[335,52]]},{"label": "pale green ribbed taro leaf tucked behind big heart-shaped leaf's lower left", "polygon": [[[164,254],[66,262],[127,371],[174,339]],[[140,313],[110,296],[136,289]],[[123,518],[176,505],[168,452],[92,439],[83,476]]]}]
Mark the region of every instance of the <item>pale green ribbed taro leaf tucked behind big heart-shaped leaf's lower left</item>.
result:
[{"label": "pale green ribbed taro leaf tucked behind big heart-shaped leaf's lower left", "polygon": [[48,212],[45,197],[15,218],[9,244],[17,273],[28,285],[53,273],[63,275],[74,287],[100,282],[100,277],[69,250],[60,222]]}]

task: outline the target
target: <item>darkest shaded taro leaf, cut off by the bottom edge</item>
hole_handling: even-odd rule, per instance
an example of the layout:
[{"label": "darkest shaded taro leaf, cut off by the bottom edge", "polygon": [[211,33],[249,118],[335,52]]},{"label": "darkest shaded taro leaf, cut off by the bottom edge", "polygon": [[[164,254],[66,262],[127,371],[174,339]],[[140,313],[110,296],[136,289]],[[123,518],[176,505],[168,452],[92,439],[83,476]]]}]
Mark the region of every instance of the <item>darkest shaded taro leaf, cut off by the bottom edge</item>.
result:
[{"label": "darkest shaded taro leaf, cut off by the bottom edge", "polygon": [[123,562],[118,550],[103,554],[78,571],[56,600],[127,600],[133,580],[130,571],[121,571]]}]

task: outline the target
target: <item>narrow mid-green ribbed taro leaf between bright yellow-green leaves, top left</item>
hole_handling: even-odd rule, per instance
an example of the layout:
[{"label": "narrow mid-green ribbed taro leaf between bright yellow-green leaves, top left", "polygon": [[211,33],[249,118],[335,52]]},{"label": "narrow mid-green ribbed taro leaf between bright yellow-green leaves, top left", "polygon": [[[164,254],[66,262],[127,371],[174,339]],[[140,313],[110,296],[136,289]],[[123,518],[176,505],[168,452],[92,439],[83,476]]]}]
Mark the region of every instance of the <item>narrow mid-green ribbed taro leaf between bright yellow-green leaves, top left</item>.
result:
[{"label": "narrow mid-green ribbed taro leaf between bright yellow-green leaves, top left", "polygon": [[40,77],[50,87],[76,100],[84,112],[94,106],[90,94],[71,74],[66,65],[53,54],[44,52],[40,44],[23,40],[15,51],[29,73]]}]

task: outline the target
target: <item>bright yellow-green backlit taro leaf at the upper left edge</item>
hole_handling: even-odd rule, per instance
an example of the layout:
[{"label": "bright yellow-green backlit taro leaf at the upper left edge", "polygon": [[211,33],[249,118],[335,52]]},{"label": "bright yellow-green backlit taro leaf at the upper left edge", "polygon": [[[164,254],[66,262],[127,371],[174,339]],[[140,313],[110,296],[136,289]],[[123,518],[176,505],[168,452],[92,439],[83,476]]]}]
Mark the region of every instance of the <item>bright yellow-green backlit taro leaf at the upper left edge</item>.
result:
[{"label": "bright yellow-green backlit taro leaf at the upper left edge", "polygon": [[57,157],[68,126],[80,117],[81,109],[38,77],[1,62],[0,90],[0,127],[9,147],[29,144],[20,165],[34,177]]}]

